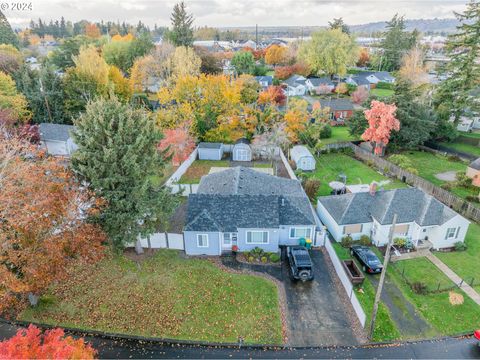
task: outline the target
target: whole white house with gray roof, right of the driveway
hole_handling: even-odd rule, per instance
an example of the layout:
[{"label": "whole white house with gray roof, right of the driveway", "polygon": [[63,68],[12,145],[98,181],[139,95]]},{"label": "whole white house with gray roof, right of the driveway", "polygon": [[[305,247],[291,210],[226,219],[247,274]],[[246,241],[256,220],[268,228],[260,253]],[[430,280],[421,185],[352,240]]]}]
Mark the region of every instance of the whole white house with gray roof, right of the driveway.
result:
[{"label": "whole white house with gray roof, right of the driveway", "polygon": [[394,238],[406,238],[415,246],[428,240],[435,249],[463,242],[470,224],[417,188],[322,196],[317,202],[317,214],[336,241],[368,235],[375,245],[386,245],[395,213]]}]

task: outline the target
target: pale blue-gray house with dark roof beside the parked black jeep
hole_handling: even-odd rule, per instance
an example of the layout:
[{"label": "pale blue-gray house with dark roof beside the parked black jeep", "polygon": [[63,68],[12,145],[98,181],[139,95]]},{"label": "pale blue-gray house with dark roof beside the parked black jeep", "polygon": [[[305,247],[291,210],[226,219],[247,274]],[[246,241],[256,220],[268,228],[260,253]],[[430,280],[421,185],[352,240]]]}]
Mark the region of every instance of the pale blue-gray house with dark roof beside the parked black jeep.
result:
[{"label": "pale blue-gray house with dark roof beside the parked black jeep", "polygon": [[221,255],[314,240],[315,219],[298,180],[235,167],[203,176],[187,202],[184,227],[188,255]]}]

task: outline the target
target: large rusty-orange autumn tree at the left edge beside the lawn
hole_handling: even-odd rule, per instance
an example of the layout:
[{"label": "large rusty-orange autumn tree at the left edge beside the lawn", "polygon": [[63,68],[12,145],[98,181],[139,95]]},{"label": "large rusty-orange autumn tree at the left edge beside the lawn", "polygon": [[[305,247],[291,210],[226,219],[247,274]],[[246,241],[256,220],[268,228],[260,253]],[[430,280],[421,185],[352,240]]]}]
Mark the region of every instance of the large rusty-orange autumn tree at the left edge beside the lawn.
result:
[{"label": "large rusty-orange autumn tree at the left edge beside the lawn", "polygon": [[88,221],[101,202],[61,159],[0,132],[0,314],[18,309],[72,262],[103,254],[103,231]]}]

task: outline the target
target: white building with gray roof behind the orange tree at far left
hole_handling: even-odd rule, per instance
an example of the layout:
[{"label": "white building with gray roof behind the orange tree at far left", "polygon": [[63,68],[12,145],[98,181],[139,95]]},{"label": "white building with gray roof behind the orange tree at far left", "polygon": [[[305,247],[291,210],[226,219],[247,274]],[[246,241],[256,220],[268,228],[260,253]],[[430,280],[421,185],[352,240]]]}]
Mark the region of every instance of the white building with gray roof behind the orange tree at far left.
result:
[{"label": "white building with gray roof behind the orange tree at far left", "polygon": [[50,155],[70,156],[77,146],[70,133],[75,127],[62,124],[40,124],[40,144],[47,149]]}]

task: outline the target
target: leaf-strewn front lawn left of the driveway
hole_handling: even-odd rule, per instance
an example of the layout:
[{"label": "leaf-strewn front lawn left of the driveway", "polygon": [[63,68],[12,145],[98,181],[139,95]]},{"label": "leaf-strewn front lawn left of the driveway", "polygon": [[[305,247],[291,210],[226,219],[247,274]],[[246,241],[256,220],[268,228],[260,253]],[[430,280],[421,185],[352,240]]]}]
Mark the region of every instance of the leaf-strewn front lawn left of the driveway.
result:
[{"label": "leaf-strewn front lawn left of the driveway", "polygon": [[131,335],[281,344],[277,287],[208,260],[157,251],[138,266],[111,256],[72,269],[21,320]]}]

